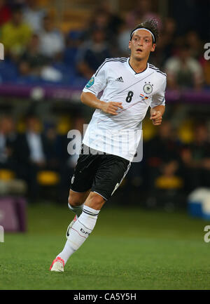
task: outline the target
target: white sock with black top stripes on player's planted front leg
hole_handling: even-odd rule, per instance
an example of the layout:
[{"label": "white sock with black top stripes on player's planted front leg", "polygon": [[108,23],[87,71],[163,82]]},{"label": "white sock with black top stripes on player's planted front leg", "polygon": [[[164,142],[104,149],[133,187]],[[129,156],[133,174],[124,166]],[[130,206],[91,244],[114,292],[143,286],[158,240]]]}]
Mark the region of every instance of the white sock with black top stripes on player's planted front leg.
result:
[{"label": "white sock with black top stripes on player's planted front leg", "polygon": [[63,251],[57,255],[64,260],[65,264],[70,256],[80,248],[85,242],[85,239],[87,239],[92,232],[94,225],[97,222],[98,214],[99,210],[84,205],[83,213],[78,217],[78,220],[73,224],[73,227],[71,227]]}]

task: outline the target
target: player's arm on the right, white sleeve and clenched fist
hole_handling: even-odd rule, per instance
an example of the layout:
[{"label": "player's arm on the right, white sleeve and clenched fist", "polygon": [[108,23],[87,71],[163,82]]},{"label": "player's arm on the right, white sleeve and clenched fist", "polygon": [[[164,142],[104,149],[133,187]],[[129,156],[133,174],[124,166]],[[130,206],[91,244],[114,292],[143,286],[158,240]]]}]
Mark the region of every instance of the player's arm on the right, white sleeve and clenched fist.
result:
[{"label": "player's arm on the right, white sleeve and clenched fist", "polygon": [[162,123],[162,116],[165,112],[165,88],[166,88],[166,78],[158,92],[153,95],[151,101],[151,120],[153,125],[159,126]]}]

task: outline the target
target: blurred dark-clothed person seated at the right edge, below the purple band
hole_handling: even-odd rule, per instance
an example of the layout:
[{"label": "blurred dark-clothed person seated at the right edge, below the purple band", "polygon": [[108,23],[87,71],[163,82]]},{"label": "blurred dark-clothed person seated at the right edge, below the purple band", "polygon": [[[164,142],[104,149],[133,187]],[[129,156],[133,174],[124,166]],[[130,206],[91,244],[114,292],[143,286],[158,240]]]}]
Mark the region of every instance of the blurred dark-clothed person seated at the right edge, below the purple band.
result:
[{"label": "blurred dark-clothed person seated at the right edge, below the purple band", "polygon": [[181,158],[187,189],[210,187],[210,143],[205,124],[195,126],[193,143],[183,147]]}]

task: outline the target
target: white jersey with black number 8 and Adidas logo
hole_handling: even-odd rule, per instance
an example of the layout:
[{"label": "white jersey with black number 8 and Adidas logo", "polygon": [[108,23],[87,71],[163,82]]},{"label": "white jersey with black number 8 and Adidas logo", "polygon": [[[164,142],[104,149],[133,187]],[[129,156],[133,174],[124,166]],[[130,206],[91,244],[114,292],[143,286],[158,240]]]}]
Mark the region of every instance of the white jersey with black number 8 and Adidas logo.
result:
[{"label": "white jersey with black number 8 and Adidas logo", "polygon": [[137,73],[129,60],[106,59],[83,89],[96,96],[103,91],[100,100],[123,105],[123,110],[118,108],[118,115],[95,110],[83,143],[94,150],[132,161],[148,107],[165,105],[166,74],[149,63],[146,70]]}]

